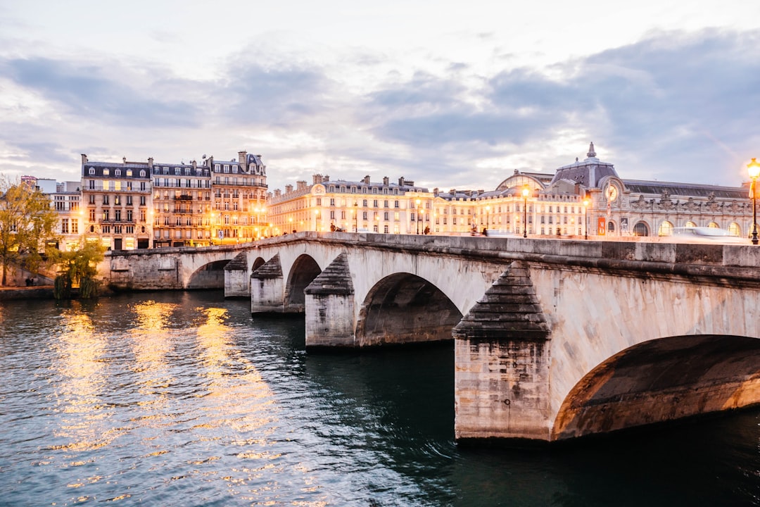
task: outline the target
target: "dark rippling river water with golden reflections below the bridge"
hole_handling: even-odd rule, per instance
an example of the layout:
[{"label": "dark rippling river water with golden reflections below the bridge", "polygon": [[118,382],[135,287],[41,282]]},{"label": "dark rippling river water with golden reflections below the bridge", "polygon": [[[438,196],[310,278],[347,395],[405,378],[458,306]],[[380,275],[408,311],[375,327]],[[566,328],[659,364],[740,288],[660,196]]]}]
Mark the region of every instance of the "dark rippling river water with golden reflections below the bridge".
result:
[{"label": "dark rippling river water with golden reflections below the bridge", "polygon": [[306,353],[216,291],[0,304],[0,505],[760,505],[760,409],[454,442],[453,345]]}]

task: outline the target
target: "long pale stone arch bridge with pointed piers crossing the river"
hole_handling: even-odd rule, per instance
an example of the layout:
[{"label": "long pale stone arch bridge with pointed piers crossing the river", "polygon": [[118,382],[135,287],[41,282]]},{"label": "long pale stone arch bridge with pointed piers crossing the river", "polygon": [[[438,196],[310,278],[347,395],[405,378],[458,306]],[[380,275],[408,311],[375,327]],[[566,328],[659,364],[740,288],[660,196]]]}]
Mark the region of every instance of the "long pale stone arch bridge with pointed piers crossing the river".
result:
[{"label": "long pale stone arch bridge with pointed piers crossing the river", "polygon": [[308,348],[453,338],[458,439],[553,441],[760,402],[757,247],[298,233],[176,250],[235,257],[226,296],[306,312]]}]

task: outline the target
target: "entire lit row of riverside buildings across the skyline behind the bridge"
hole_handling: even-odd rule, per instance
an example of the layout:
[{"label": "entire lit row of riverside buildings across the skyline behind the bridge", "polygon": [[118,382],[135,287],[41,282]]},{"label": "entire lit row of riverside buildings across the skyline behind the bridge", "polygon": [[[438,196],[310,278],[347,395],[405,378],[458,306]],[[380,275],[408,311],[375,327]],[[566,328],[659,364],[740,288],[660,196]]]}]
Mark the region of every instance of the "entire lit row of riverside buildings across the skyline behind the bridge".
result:
[{"label": "entire lit row of riverside buildings across the skyline behind the bridge", "polygon": [[[268,191],[260,155],[203,157],[200,164],[95,162],[82,155],[81,181],[36,184],[60,215],[62,248],[82,234],[110,249],[207,246],[302,230],[388,234],[667,236],[673,227],[752,232],[749,183],[742,187],[622,179],[597,158],[553,173],[516,171],[493,190],[429,190],[388,177],[372,182],[315,174]],[[51,183],[52,182],[52,183]]]}]

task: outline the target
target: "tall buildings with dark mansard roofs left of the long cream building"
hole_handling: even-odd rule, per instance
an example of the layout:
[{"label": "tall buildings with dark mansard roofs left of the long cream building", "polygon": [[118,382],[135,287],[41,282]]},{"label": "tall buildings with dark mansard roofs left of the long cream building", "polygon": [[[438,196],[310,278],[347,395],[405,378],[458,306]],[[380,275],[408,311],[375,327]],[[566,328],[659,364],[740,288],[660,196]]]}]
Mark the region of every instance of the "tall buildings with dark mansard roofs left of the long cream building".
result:
[{"label": "tall buildings with dark mansard roofs left of the long cream building", "polygon": [[82,154],[81,181],[37,180],[60,215],[62,249],[81,235],[109,249],[208,246],[269,234],[266,166],[261,155],[201,163],[97,162]]}]

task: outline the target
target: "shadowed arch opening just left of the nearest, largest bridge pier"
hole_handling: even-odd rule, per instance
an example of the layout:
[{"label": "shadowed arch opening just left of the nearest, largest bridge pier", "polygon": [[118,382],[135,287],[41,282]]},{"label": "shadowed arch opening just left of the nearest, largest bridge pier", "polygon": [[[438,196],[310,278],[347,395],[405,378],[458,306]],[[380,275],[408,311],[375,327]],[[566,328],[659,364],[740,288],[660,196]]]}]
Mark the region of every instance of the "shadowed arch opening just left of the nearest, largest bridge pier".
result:
[{"label": "shadowed arch opening just left of the nearest, largest bridge pier", "polygon": [[356,324],[361,345],[452,340],[462,319],[445,293],[422,277],[391,274],[367,293]]}]

